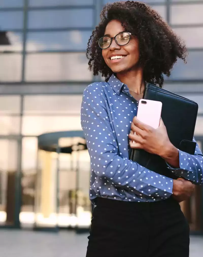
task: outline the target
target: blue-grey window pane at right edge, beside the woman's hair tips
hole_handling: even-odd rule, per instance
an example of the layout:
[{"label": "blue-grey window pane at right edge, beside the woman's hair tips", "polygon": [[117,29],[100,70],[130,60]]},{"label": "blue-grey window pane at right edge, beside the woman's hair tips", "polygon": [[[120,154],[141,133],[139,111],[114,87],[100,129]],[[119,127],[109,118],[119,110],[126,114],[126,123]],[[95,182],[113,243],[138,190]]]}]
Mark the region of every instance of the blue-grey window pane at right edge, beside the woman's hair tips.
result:
[{"label": "blue-grey window pane at right edge, beside the woman's hair tips", "polygon": [[170,79],[203,79],[203,51],[191,51],[187,64],[178,60],[171,72]]}]

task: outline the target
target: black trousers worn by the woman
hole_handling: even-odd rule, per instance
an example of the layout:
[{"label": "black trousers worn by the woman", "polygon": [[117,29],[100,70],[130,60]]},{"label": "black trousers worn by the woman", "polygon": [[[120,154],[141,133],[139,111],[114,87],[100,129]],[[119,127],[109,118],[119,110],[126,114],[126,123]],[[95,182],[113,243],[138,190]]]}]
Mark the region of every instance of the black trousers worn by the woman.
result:
[{"label": "black trousers worn by the woman", "polygon": [[172,198],[96,199],[86,257],[188,257],[189,225]]}]

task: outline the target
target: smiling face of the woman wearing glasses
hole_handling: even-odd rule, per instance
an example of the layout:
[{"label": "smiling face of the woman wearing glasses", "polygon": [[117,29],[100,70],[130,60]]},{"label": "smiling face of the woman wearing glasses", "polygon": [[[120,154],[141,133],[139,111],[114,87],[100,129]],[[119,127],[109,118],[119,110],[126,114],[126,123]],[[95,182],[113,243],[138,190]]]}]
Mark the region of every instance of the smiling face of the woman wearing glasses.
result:
[{"label": "smiling face of the woman wearing glasses", "polygon": [[[122,31],[125,31],[125,28],[121,22],[112,20],[107,24],[104,34],[114,37]],[[112,40],[110,47],[102,50],[102,56],[113,73],[123,73],[135,69],[139,61],[138,39],[131,35],[129,43],[123,46]]]}]

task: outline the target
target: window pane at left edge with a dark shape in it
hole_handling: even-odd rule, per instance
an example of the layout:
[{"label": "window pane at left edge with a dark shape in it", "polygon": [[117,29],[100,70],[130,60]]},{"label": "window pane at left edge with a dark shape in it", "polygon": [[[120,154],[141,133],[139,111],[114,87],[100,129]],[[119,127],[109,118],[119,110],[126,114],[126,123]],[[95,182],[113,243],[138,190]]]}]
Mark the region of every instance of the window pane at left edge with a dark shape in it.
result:
[{"label": "window pane at left edge with a dark shape in it", "polygon": [[0,52],[2,51],[22,51],[23,50],[23,35],[22,33],[7,32],[10,45],[0,45]]}]

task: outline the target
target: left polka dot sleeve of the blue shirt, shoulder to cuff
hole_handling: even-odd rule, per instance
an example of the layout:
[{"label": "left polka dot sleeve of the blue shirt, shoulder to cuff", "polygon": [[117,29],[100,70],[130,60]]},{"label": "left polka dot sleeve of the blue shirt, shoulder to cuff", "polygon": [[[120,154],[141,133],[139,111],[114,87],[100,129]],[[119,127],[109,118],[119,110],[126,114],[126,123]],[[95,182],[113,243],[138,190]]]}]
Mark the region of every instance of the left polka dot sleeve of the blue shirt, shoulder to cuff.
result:
[{"label": "left polka dot sleeve of the blue shirt, shoulder to cuff", "polygon": [[107,178],[115,186],[122,186],[135,194],[170,197],[173,188],[172,179],[119,155],[117,138],[109,119],[111,113],[102,92],[103,90],[99,88],[95,90],[94,84],[87,87],[81,107],[81,125],[90,154],[91,168],[95,175]]}]

